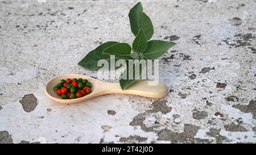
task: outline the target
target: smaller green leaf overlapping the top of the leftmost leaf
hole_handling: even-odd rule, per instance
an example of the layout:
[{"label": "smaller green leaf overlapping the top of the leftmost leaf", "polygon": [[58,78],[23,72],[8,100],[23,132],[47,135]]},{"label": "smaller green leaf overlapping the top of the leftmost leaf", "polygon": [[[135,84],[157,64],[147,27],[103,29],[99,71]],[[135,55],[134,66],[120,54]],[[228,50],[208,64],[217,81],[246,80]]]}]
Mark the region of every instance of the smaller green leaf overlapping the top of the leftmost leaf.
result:
[{"label": "smaller green leaf overlapping the top of the leftmost leaf", "polygon": [[108,48],[106,48],[103,54],[115,55],[115,58],[123,60],[133,60],[131,57],[131,47],[127,43],[117,43]]}]

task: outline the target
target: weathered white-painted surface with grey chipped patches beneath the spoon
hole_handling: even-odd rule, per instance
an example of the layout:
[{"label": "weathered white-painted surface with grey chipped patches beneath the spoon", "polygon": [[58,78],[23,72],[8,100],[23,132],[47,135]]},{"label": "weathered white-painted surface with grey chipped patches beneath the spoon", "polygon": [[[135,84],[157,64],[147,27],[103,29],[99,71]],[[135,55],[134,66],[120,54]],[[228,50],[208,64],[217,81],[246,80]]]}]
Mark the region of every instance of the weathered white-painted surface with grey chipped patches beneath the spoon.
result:
[{"label": "weathered white-painted surface with grey chipped patches beneath the spoon", "polygon": [[142,2],[152,39],[177,43],[159,59],[164,99],[46,97],[59,74],[97,77],[77,62],[101,43],[132,43],[135,3],[0,1],[1,143],[256,143],[255,0]]}]

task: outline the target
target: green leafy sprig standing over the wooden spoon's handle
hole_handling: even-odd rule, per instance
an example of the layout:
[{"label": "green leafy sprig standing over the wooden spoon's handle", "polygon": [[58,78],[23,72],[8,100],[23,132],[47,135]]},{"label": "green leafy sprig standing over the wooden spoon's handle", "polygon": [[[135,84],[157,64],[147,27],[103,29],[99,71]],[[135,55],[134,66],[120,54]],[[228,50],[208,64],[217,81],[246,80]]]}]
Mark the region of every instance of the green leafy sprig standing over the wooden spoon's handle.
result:
[{"label": "green leafy sprig standing over the wooden spoon's handle", "polygon": [[[101,66],[97,66],[98,61],[106,60],[110,64],[110,55],[114,55],[115,60],[155,60],[176,45],[171,41],[150,40],[154,29],[151,19],[143,12],[141,2],[138,2],[131,8],[129,19],[131,32],[135,36],[131,47],[127,43],[108,41],[93,49],[93,51],[90,51],[78,64],[86,69],[98,70],[101,68]],[[134,71],[134,66],[129,66],[127,63],[124,72],[129,72],[129,68]],[[119,79],[120,86],[123,90],[137,81],[139,79]]]}]

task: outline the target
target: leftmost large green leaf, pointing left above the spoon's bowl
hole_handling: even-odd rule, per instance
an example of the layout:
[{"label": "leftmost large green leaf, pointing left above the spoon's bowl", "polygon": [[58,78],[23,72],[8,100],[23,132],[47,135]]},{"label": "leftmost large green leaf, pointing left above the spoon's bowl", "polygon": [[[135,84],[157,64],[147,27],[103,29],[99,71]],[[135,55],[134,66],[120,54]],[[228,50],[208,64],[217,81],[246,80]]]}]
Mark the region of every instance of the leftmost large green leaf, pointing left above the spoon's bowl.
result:
[{"label": "leftmost large green leaf, pointing left above the spoon's bowl", "polygon": [[110,64],[110,56],[104,55],[102,52],[104,49],[114,45],[118,44],[116,41],[108,41],[104,44],[101,44],[96,49],[93,49],[93,51],[90,51],[82,60],[78,63],[78,65],[90,69],[90,70],[97,70],[100,69],[101,66],[97,66],[99,60],[107,60]]}]

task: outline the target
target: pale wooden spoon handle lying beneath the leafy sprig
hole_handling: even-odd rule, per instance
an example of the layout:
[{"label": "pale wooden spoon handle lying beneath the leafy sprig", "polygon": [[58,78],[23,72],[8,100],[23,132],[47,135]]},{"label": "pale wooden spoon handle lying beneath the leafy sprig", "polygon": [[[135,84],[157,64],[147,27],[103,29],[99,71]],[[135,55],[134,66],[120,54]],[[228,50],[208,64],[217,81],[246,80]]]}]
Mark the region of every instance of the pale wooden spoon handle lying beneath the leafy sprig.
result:
[{"label": "pale wooden spoon handle lying beneath the leafy sprig", "polygon": [[143,97],[149,98],[163,98],[167,95],[167,87],[163,82],[158,82],[157,85],[150,86],[148,82],[150,80],[138,81],[133,85],[129,86],[126,90],[122,90],[119,83],[110,83],[110,82],[99,82],[98,89],[95,90],[97,95],[104,94],[132,94],[140,95]]}]

